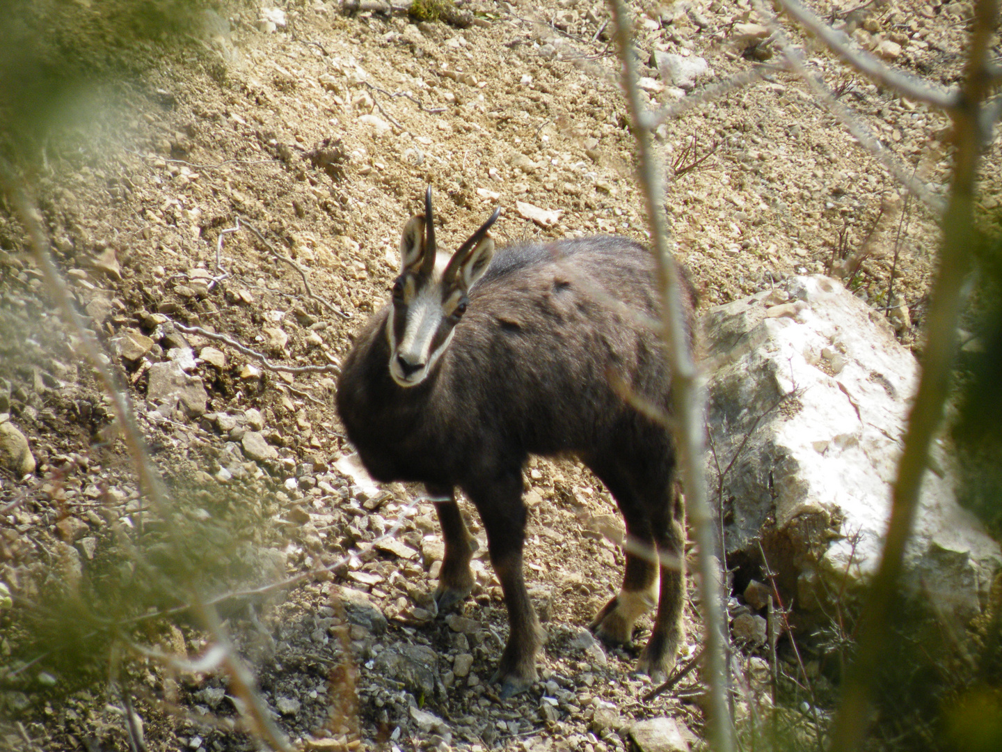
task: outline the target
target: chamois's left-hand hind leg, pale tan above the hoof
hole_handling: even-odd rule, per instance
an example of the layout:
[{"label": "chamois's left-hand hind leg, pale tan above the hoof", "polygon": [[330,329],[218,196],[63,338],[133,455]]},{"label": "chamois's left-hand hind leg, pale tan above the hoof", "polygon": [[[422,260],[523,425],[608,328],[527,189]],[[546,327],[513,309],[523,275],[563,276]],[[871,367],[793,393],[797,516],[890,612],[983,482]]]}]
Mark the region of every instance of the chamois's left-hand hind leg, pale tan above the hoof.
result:
[{"label": "chamois's left-hand hind leg, pale tan above the hoof", "polygon": [[592,466],[592,470],[616,499],[626,522],[626,568],[622,588],[598,612],[590,628],[605,642],[624,644],[630,641],[636,620],[657,605],[654,534],[625,473],[609,466]]}]

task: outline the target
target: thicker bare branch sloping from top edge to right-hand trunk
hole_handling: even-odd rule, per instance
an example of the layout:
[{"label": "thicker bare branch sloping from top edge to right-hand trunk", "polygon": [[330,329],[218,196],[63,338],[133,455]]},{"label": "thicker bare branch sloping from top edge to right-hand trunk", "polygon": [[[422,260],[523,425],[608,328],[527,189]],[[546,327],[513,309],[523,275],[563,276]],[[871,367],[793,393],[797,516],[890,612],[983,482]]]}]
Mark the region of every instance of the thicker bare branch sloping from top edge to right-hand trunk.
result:
[{"label": "thicker bare branch sloping from top edge to right-hand trunk", "polygon": [[845,32],[833,29],[805,8],[800,0],[779,0],[779,2],[787,13],[797,19],[805,29],[825,42],[832,52],[876,83],[894,89],[901,96],[932,104],[939,109],[949,111],[960,106],[959,92],[956,90],[943,90],[938,86],[931,86],[921,78],[900,73],[885,65],[869,52],[855,48]]}]

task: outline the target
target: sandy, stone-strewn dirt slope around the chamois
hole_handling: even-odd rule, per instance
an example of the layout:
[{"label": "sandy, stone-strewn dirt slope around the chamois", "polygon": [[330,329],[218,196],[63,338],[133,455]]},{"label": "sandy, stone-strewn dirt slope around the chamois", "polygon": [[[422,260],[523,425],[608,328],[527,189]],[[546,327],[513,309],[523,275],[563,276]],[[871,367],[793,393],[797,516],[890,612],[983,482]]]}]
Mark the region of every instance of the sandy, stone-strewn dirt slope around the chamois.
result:
[{"label": "sandy, stone-strewn dirt slope around the chamois", "polygon": [[[697,743],[694,674],[646,700],[649,680],[630,673],[643,631],[637,650],[582,634],[617,591],[623,561],[609,540],[620,529],[614,505],[586,471],[542,460],[526,469],[527,579],[548,641],[542,681],[501,703],[488,681],[507,625],[486,545],[462,619],[433,619],[433,507],[415,503],[418,489],[368,487],[346,460],[352,449],[333,408],[337,366],[387,299],[399,234],[426,185],[443,248],[495,207],[500,243],[646,240],[608,10],[588,0],[473,0],[457,4],[472,21],[459,28],[396,12],[345,15],[331,2],[277,5],[284,18],[250,3],[203,16],[185,54],[91,92],[93,120],[43,147],[37,199],[57,263],[127,383],[178,499],[169,514],[143,506],[123,443],[107,431],[109,400],[0,206],[0,412],[37,462],[25,478],[0,472],[0,582],[19,599],[0,611],[9,661],[0,748],[128,749],[131,706],[149,749],[255,746],[234,730],[241,700],[219,671],[169,669],[119,647],[92,660],[85,683],[67,668],[75,654],[60,655],[64,644],[25,652],[37,635],[19,609],[53,591],[82,596],[78,611],[47,615],[53,632],[80,636],[77,648],[104,629],[88,621],[88,598],[106,604],[125,588],[154,612],[190,602],[160,588],[156,578],[174,571],[122,565],[130,536],[181,550],[165,554],[181,572],[173,585],[197,582],[209,597],[344,559],[327,577],[219,604],[276,722],[307,748],[355,749],[361,739],[389,749],[605,752],[626,748],[631,723],[662,716]],[[895,65],[956,82],[969,3],[879,2],[851,15],[814,5]],[[651,107],[699,97],[756,62],[773,66],[657,131],[676,255],[701,306],[793,274],[839,272],[864,249],[847,281],[916,343],[937,243],[931,212],[781,69],[747,0],[633,10]],[[891,157],[942,196],[947,119],[792,36]],[[708,69],[676,89],[652,65],[655,51],[701,57]],[[993,209],[997,144],[988,158],[983,194]],[[533,208],[542,210],[535,220]],[[277,371],[248,351],[326,370]],[[146,400],[155,367],[191,355],[183,367],[201,379],[204,408],[157,409]],[[398,534],[372,545],[398,523]],[[177,530],[187,547],[176,545]],[[691,591],[683,659],[699,641]],[[130,622],[125,637],[175,657],[204,652],[196,629],[161,622]],[[764,665],[745,657],[753,683]]]}]

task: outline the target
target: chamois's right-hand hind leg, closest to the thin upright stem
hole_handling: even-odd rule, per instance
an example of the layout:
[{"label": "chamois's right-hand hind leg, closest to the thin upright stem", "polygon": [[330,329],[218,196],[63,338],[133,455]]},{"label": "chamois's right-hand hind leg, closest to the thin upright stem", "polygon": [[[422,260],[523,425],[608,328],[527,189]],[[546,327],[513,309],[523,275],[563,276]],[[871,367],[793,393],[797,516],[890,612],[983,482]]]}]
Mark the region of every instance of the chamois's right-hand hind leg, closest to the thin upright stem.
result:
[{"label": "chamois's right-hand hind leg, closest to the thin upright stem", "polygon": [[652,510],[657,553],[660,559],[661,588],[654,631],[640,654],[637,669],[655,681],[667,676],[675,664],[675,652],[681,643],[682,609],[685,605],[685,509],[677,484],[668,482],[661,491],[667,503]]}]

